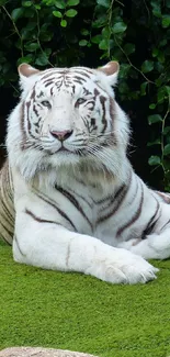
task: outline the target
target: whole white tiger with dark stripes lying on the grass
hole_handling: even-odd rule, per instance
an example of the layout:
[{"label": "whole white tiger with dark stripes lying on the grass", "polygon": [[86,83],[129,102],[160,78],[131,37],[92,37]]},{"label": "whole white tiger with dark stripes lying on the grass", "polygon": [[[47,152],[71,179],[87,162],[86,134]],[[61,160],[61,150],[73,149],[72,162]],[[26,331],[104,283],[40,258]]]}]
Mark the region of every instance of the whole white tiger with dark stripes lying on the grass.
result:
[{"label": "whole white tiger with dark stripes lying on the grass", "polygon": [[0,211],[15,261],[136,283],[158,271],[144,258],[170,257],[169,196],[150,190],[126,156],[128,119],[112,88],[118,68],[20,65]]}]

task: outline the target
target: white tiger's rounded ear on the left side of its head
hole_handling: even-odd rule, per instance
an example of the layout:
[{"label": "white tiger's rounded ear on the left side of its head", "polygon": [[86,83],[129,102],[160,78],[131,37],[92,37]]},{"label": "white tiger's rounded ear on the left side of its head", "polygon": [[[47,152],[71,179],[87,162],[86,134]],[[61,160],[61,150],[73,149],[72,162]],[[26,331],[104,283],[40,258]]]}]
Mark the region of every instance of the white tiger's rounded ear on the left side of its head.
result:
[{"label": "white tiger's rounded ear on the left side of its head", "polygon": [[29,64],[21,64],[18,67],[20,75],[20,85],[24,92],[27,92],[35,83],[37,75],[41,72],[38,69],[30,66]]}]

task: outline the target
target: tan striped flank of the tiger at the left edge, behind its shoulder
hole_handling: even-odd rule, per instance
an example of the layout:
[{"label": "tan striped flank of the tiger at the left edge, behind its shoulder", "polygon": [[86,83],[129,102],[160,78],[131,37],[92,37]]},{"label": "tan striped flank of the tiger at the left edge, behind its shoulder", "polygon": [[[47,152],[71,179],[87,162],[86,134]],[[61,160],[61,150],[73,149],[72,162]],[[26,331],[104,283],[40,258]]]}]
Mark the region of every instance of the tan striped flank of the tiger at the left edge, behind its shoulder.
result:
[{"label": "tan striped flank of the tiger at the left edge, behind its shoulder", "polygon": [[0,238],[12,244],[14,232],[13,187],[7,159],[0,170]]}]

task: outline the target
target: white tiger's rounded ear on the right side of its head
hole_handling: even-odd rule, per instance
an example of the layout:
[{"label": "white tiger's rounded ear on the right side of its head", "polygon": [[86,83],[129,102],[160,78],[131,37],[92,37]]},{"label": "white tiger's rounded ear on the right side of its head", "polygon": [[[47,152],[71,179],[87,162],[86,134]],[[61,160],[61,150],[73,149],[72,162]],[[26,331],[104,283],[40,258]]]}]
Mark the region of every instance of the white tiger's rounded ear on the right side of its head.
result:
[{"label": "white tiger's rounded ear on the right side of its head", "polygon": [[116,85],[120,71],[120,65],[116,60],[109,62],[105,66],[99,67],[98,70],[107,76],[107,80],[110,81],[111,86]]}]

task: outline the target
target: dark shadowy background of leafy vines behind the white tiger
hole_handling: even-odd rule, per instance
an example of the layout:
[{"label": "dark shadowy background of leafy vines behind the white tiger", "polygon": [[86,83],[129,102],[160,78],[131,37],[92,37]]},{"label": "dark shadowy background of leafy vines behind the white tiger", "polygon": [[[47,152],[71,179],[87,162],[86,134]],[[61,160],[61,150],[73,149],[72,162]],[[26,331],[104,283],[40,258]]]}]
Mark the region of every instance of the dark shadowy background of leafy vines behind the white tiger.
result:
[{"label": "dark shadowy background of leafy vines behind the white tiger", "polygon": [[[160,137],[160,124],[149,126],[148,115],[163,116],[167,111],[167,97],[159,100],[159,92],[170,86],[170,22],[166,27],[162,22],[163,16],[169,15],[170,1],[76,0],[75,3],[72,9],[77,15],[67,18],[64,8],[69,7],[65,0],[0,0],[0,143],[4,143],[7,118],[19,100],[14,89],[19,90],[16,67],[20,63],[29,62],[45,69],[50,65],[98,67],[116,59],[121,64],[116,99],[128,114],[133,132],[128,157],[149,186],[163,189],[162,169],[152,172],[155,167],[148,165],[151,155],[161,155],[160,147],[147,144]],[[54,16],[56,10],[67,20],[67,27],[61,27],[60,19]],[[114,33],[115,24],[125,27]],[[88,35],[82,32],[84,29]],[[81,40],[87,40],[87,45],[81,46]],[[103,40],[105,47],[101,47]],[[128,44],[134,46],[131,53],[126,49]],[[143,70],[146,60],[152,67]],[[150,83],[143,92],[145,76]],[[160,104],[151,111],[149,104],[158,100]],[[169,116],[167,120],[170,125]],[[1,146],[0,165],[4,157],[5,149]]]}]

